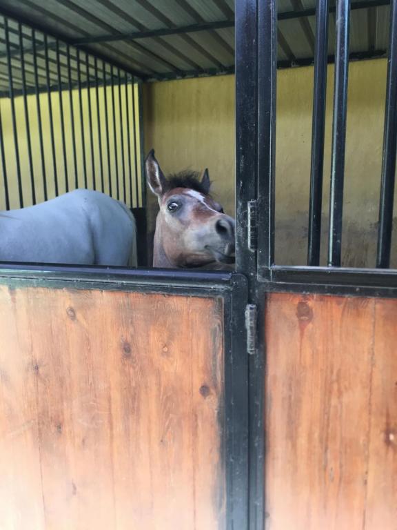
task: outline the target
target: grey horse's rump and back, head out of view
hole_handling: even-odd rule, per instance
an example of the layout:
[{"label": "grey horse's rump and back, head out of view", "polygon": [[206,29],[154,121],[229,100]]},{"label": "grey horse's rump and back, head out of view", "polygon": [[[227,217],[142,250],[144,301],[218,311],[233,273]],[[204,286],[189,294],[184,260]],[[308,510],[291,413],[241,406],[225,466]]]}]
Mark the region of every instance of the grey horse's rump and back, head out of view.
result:
[{"label": "grey horse's rump and back, head out of view", "polygon": [[0,262],[136,266],[136,225],[125,204],[91,190],[0,215]]}]

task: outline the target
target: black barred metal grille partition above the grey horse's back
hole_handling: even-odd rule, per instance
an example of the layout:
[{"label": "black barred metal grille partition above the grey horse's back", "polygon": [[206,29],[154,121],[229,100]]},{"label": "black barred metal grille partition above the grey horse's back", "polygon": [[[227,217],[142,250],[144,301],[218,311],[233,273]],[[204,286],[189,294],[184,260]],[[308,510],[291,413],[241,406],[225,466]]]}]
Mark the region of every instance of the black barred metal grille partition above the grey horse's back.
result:
[{"label": "black barred metal grille partition above the grey horse's back", "polygon": [[143,206],[139,88],[130,72],[0,17],[0,208],[78,187]]}]

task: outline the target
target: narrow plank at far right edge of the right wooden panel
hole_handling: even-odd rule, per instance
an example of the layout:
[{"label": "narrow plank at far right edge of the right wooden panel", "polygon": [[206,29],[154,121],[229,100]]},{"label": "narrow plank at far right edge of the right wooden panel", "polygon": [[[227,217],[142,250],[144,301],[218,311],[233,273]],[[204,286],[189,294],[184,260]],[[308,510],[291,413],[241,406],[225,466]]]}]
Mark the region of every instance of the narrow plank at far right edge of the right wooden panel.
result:
[{"label": "narrow plank at far right edge of the right wooden panel", "polygon": [[376,300],[365,530],[397,528],[397,300]]}]

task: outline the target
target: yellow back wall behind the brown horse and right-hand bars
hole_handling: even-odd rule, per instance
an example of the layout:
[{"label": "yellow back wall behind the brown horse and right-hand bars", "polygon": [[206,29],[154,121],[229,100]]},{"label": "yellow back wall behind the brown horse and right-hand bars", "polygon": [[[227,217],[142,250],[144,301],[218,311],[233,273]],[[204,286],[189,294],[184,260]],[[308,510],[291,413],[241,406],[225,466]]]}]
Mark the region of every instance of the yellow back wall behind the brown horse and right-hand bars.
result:
[{"label": "yellow back wall behind the brown horse and right-hand bars", "polygon": [[[374,266],[387,61],[350,64],[343,264]],[[323,193],[327,246],[332,92],[329,67]],[[313,68],[278,71],[276,262],[305,264],[312,137]],[[144,90],[145,151],[154,147],[165,173],[208,167],[214,192],[234,213],[234,77],[149,84]],[[150,199],[150,222],[155,216]],[[397,252],[393,255],[397,266]]]}]

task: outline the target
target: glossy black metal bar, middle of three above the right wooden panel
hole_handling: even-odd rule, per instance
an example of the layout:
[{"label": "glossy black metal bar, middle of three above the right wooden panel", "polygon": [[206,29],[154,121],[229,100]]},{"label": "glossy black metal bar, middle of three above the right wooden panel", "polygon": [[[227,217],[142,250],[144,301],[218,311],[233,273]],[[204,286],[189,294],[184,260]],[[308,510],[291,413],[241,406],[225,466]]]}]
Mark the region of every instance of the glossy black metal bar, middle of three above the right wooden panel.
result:
[{"label": "glossy black metal bar, middle of three above the right wooden panel", "polygon": [[349,72],[350,0],[336,3],[336,50],[334,117],[332,122],[331,192],[329,196],[328,265],[340,266],[342,249],[343,181],[347,117],[347,77]]}]

